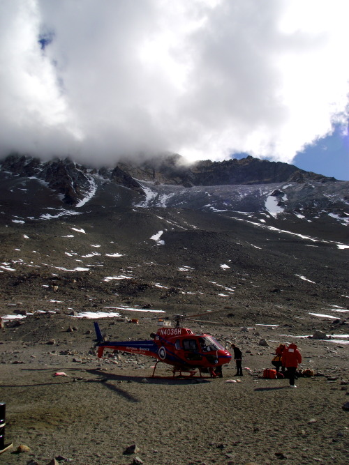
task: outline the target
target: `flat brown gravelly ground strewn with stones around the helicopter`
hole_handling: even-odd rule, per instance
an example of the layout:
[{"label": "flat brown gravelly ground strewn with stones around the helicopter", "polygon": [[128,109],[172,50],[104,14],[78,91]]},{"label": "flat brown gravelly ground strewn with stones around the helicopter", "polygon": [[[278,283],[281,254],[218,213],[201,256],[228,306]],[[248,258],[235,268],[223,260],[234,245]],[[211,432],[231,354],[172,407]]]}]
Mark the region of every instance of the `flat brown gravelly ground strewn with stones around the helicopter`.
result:
[{"label": "flat brown gravelly ground strewn with stones around the helicopter", "polygon": [[[22,323],[22,324],[20,324]],[[120,354],[98,360],[92,320],[34,314],[1,333],[1,401],[6,402],[4,464],[338,464],[348,462],[348,346],[302,339],[303,368],[318,376],[261,379],[280,328],[192,322],[198,333],[239,344],[244,376],[151,378],[154,360]],[[100,320],[121,340],[149,339],[156,321]],[[261,346],[265,338],[269,346]],[[64,372],[66,376],[54,376]],[[227,383],[235,379],[237,383]],[[126,454],[136,445],[135,453]],[[17,452],[20,445],[30,450]],[[138,459],[142,462],[137,462]]]}]

